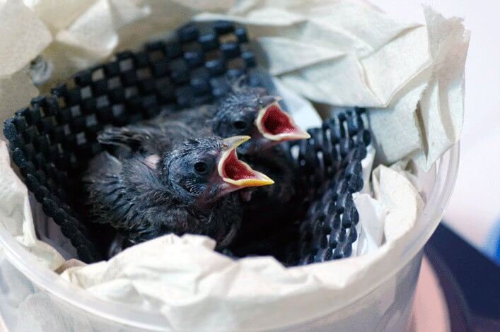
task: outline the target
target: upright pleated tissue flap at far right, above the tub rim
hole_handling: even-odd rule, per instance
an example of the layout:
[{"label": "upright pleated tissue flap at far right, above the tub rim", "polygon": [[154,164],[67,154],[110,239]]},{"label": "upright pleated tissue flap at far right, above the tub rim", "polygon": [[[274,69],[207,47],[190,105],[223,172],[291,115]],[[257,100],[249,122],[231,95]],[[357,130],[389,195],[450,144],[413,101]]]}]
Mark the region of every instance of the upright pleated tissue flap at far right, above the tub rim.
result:
[{"label": "upright pleated tissue flap at far right, above the tub rim", "polygon": [[402,97],[386,109],[390,112],[371,109],[370,118],[381,161],[412,156],[427,171],[460,139],[470,32],[461,18],[443,18],[429,7],[424,7],[424,15],[426,36],[421,40],[429,45],[429,61],[409,82],[410,89],[398,92]]}]

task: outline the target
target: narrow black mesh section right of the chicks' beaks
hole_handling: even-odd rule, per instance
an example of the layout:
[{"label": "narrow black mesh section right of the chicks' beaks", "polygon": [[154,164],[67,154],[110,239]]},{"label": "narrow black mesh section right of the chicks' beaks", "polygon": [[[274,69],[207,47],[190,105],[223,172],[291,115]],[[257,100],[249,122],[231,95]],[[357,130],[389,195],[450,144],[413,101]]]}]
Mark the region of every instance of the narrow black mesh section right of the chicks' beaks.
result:
[{"label": "narrow black mesh section right of the chicks' beaks", "polygon": [[351,256],[359,222],[352,194],[363,189],[361,160],[371,143],[365,112],[349,109],[328,119],[321,128],[309,130],[311,138],[299,142],[292,153],[302,186],[310,188],[310,203],[306,218],[298,223],[291,265]]}]

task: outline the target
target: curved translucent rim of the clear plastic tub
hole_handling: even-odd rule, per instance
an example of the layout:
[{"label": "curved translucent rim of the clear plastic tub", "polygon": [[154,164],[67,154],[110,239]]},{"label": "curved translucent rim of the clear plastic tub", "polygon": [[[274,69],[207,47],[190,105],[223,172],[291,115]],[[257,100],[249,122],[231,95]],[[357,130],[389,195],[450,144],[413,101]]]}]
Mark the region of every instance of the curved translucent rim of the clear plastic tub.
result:
[{"label": "curved translucent rim of the clear plastic tub", "polygon": [[[383,278],[379,279],[378,283],[374,283],[372,287],[358,297],[352,298],[349,302],[345,302],[342,304],[342,307],[356,302],[356,300],[361,299],[375,290],[383,284],[385,280],[388,280],[388,278],[392,277],[395,273],[406,266],[407,263],[424,247],[434,230],[436,230],[436,227],[438,226],[438,223],[443,215],[444,208],[446,208],[446,205],[450,200],[458,174],[459,158],[460,143],[455,143],[441,156],[441,158],[439,158],[439,165],[435,170],[436,182],[431,190],[431,195],[429,196],[429,200],[424,207],[424,211],[421,213],[419,220],[417,220],[417,223],[414,226],[418,227],[415,231],[417,234],[415,236],[416,240],[407,247],[399,260],[399,263],[395,265],[395,268],[391,271],[386,272],[383,275]],[[442,170],[443,161],[445,162],[444,166],[446,166],[446,170]],[[443,172],[444,177],[440,178],[439,175],[441,172]],[[427,220],[427,223],[423,223],[425,220]],[[430,225],[430,227],[426,227],[429,226],[429,223],[434,224]],[[125,304],[102,300],[94,295],[91,295],[90,292],[66,282],[66,280],[62,280],[62,278],[59,278],[57,273],[50,271],[50,269],[44,268],[37,263],[36,259],[30,255],[26,249],[21,247],[21,244],[18,244],[18,242],[16,242],[10,234],[8,234],[4,225],[0,225],[0,247],[4,249],[4,253],[8,261],[21,271],[21,273],[23,273],[23,275],[25,275],[33,284],[50,293],[50,295],[54,295],[59,300],[62,300],[62,302],[68,302],[84,312],[88,312],[89,314],[93,314],[103,319],[108,319],[118,324],[124,324],[135,328],[146,328],[152,331],[165,331],[165,329],[168,329],[169,324],[167,319],[159,313],[149,313],[143,310],[132,309]],[[34,266],[37,268],[33,268]],[[78,298],[78,300],[76,300],[76,298]],[[341,308],[331,308],[327,313],[323,312],[318,314],[318,316],[315,316],[315,318],[306,319],[305,321],[302,321],[301,324],[315,319],[320,319],[328,313],[335,311],[335,309]],[[270,328],[286,328],[293,325],[286,324],[286,326],[271,326]]]}]

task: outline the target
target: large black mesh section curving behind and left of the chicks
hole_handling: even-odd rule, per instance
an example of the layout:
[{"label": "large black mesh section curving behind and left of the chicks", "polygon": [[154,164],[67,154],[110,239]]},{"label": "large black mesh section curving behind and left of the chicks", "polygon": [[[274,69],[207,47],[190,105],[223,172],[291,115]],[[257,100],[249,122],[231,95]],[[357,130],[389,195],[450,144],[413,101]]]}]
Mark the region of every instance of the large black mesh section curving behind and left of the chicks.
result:
[{"label": "large black mesh section curving behind and left of the chicks", "polygon": [[[5,122],[11,156],[25,184],[82,261],[101,258],[73,208],[79,174],[103,150],[97,134],[107,125],[151,118],[165,107],[193,107],[223,95],[228,76],[255,66],[247,42],[245,28],[233,23],[185,25],[173,37],[77,73]],[[250,84],[258,82],[250,76]]]}]

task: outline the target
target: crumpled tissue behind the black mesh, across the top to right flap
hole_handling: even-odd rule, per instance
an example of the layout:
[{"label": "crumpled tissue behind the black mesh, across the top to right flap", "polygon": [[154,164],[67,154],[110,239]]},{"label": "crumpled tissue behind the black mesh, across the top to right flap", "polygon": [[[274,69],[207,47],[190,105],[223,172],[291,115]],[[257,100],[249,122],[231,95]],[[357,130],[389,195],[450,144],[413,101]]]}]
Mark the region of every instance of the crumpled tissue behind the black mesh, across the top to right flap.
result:
[{"label": "crumpled tissue behind the black mesh, across the top to right flap", "polygon": [[470,32],[429,7],[419,25],[355,0],[67,2],[25,0],[54,36],[42,53],[55,66],[51,83],[188,20],[234,20],[247,26],[261,62],[296,93],[369,107],[378,161],[411,157],[429,170],[460,137]]}]

